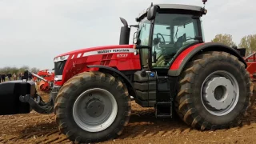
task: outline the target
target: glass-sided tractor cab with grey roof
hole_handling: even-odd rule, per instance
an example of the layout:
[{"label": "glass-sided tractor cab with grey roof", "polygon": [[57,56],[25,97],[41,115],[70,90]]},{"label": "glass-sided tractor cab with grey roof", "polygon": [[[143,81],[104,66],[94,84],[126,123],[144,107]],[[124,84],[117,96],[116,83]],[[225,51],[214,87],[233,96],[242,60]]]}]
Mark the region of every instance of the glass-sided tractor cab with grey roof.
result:
[{"label": "glass-sided tractor cab with grey roof", "polygon": [[[142,68],[166,73],[179,52],[204,42],[201,17],[206,12],[200,6],[151,4],[150,8],[139,14],[133,42],[140,54]],[[129,38],[123,34],[120,40]]]}]

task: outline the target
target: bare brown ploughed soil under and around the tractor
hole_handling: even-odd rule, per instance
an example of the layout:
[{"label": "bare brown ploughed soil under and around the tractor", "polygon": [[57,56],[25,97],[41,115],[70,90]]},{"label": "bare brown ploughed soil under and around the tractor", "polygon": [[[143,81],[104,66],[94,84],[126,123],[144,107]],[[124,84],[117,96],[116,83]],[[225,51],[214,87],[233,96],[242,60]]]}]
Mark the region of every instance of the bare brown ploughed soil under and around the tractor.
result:
[{"label": "bare brown ploughed soil under and around the tractor", "polygon": [[[44,98],[47,94],[44,95]],[[249,110],[242,126],[228,130],[199,131],[172,118],[155,118],[154,109],[132,102],[130,123],[122,135],[106,143],[255,143],[256,106]],[[0,116],[0,143],[72,143],[61,134],[54,114]]]}]

